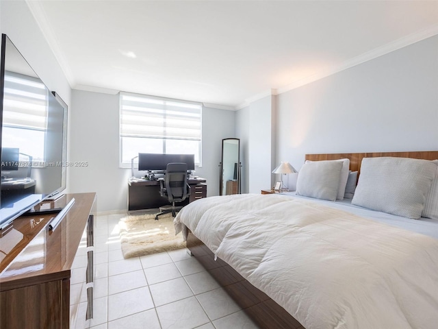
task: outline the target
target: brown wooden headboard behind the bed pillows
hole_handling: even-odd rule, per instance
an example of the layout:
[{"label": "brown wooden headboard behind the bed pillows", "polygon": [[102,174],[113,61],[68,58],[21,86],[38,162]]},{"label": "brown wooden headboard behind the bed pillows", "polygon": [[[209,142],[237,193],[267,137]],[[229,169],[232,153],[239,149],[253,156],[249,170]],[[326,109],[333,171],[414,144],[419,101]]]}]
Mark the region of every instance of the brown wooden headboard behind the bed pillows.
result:
[{"label": "brown wooden headboard behind the bed pillows", "polygon": [[361,163],[363,158],[376,158],[379,156],[396,156],[398,158],[414,158],[424,160],[437,160],[438,151],[413,151],[413,152],[375,152],[375,153],[339,153],[339,154],[306,154],[305,160],[339,160],[350,159],[350,170],[358,171],[357,177],[361,173]]}]

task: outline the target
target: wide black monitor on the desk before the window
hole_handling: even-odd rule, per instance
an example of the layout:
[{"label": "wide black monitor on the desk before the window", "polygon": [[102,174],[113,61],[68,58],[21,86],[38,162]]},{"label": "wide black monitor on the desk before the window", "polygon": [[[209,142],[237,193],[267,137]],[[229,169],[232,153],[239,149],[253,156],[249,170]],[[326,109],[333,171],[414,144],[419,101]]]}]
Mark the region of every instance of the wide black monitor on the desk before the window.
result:
[{"label": "wide black monitor on the desk before the window", "polygon": [[188,171],[194,171],[194,154],[138,154],[138,170],[140,171],[166,171],[170,162],[187,163]]}]

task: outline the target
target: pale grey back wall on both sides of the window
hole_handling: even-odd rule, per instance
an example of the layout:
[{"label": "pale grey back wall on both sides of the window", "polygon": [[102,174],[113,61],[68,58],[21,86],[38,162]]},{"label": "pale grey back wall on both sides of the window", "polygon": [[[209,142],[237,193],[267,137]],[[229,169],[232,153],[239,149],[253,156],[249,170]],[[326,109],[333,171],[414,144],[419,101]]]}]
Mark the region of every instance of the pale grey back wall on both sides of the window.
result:
[{"label": "pale grey back wall on both sides of the window", "polygon": [[[96,191],[97,210],[127,209],[131,169],[119,168],[118,95],[73,90],[70,119],[70,161],[88,167],[70,168],[70,192]],[[207,195],[219,194],[222,138],[234,137],[235,112],[203,109],[202,167],[196,175],[207,179]]]}]

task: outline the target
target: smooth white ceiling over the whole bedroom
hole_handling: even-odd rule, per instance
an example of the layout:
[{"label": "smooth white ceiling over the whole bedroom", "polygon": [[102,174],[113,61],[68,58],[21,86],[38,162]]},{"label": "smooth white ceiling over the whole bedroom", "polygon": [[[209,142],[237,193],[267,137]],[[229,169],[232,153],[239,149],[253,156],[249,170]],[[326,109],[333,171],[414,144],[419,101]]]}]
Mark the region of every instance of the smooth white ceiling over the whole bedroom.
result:
[{"label": "smooth white ceiling over the whole bedroom", "polygon": [[36,1],[70,86],[242,108],[438,34],[438,1]]}]

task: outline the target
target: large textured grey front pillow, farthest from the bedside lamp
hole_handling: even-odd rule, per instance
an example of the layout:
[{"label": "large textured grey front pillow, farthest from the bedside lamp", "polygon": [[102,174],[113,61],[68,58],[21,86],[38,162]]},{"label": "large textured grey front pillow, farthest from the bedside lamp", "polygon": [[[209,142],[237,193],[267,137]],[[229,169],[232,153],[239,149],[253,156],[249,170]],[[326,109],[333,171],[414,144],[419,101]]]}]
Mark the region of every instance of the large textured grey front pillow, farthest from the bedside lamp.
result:
[{"label": "large textured grey front pillow, farthest from the bedside lamp", "polygon": [[437,165],[411,158],[363,158],[351,203],[418,219],[435,178]]}]

